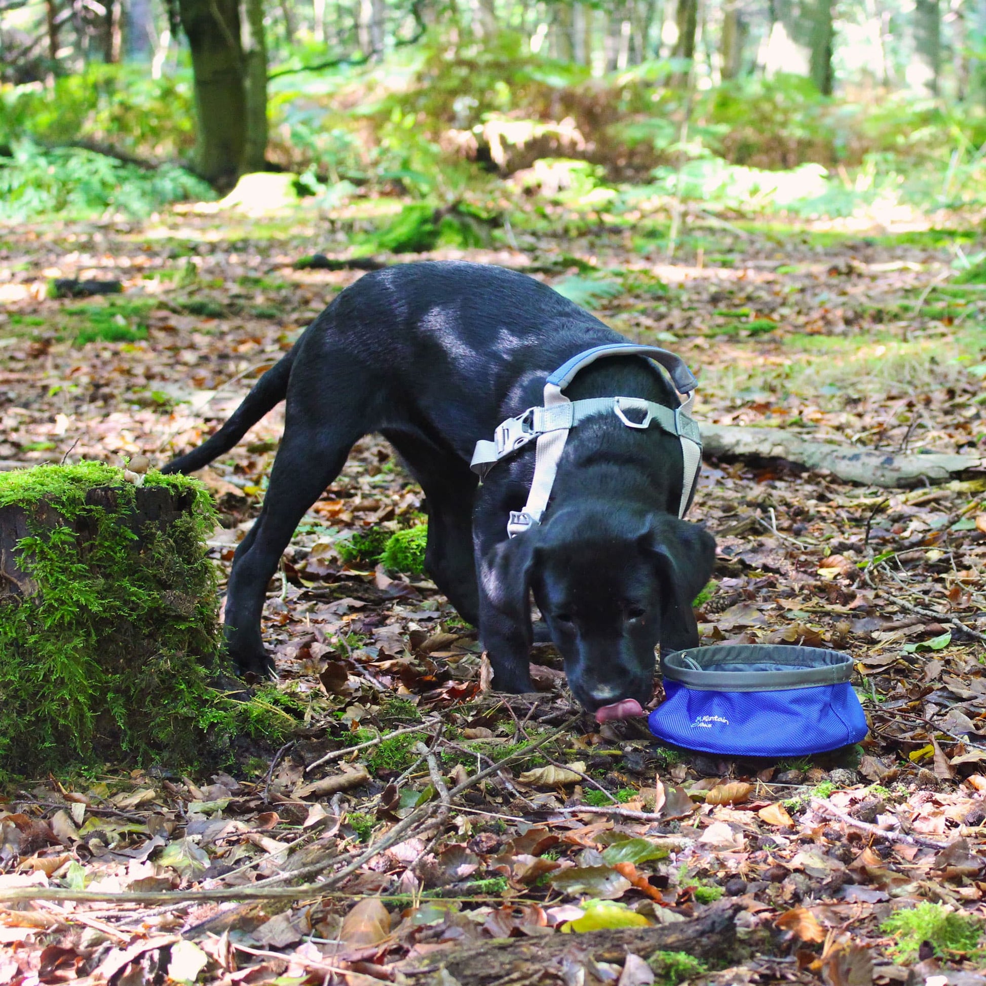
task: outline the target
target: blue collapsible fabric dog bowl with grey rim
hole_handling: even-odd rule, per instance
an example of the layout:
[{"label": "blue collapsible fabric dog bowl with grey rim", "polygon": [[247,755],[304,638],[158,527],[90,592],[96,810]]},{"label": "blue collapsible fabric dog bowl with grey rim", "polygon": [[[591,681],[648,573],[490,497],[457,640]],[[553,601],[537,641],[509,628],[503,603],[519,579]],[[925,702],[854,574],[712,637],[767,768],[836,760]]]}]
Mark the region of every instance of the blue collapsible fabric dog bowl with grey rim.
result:
[{"label": "blue collapsible fabric dog bowl with grey rim", "polygon": [[659,739],[725,756],[803,756],[862,740],[852,658],[816,647],[724,644],[662,658]]}]

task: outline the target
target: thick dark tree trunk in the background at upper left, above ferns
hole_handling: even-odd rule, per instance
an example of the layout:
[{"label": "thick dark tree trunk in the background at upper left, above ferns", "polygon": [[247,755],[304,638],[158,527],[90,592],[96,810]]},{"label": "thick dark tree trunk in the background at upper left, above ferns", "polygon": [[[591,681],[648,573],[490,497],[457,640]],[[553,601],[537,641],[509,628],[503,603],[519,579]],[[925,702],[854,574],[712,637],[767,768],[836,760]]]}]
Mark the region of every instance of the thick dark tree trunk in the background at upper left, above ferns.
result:
[{"label": "thick dark tree trunk in the background at upper left, above ferns", "polygon": [[221,191],[240,176],[246,146],[246,86],[236,0],[178,0],[191,49],[198,134],[196,169]]}]

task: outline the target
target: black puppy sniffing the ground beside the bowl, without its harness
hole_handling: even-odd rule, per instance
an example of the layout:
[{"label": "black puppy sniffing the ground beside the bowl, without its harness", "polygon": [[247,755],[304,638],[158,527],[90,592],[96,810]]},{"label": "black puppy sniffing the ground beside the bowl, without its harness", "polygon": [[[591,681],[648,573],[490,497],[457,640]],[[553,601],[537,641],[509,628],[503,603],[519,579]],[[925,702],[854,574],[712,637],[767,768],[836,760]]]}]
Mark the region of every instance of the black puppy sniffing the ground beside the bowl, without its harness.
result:
[{"label": "black puppy sniffing the ground beside the bowl, without its harness", "polygon": [[[495,687],[531,690],[532,590],[582,704],[645,704],[658,643],[665,652],[698,644],[691,601],[715,559],[712,536],[677,518],[678,440],[625,427],[612,414],[589,418],[571,431],[544,522],[514,538],[508,517],[527,499],[534,443],[481,485],[469,470],[478,439],[541,404],[548,374],[577,353],[620,342],[550,288],[498,267],[398,265],[343,291],[215,435],[164,469],[201,468],[287,398],[263,510],[230,576],[226,635],[236,668],[269,669],[260,636],[267,583],[353,444],[380,432],[424,490],[426,566],[478,626]],[[566,394],[678,404],[639,356],[600,359]]]}]

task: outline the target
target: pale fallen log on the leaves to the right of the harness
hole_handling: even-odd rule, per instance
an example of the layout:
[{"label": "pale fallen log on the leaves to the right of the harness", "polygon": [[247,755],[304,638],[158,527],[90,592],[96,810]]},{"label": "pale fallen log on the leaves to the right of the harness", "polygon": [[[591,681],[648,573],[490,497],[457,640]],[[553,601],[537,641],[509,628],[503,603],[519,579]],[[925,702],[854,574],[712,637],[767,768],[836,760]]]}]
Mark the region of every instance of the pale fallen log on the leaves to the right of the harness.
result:
[{"label": "pale fallen log on the leaves to the right of the harness", "polygon": [[986,459],[979,456],[894,455],[852,445],[813,442],[782,428],[704,423],[702,452],[715,458],[783,458],[814,471],[826,470],[847,482],[888,488],[948,482],[962,473],[986,469]]}]

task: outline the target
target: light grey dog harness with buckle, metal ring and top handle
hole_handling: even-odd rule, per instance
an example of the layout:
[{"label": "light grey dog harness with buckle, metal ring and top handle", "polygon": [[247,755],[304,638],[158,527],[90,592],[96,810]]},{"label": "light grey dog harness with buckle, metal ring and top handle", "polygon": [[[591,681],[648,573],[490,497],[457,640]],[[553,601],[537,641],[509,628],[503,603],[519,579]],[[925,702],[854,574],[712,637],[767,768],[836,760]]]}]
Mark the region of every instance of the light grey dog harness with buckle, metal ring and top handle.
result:
[{"label": "light grey dog harness with buckle, metal ring and top handle", "polygon": [[[666,407],[642,397],[590,397],[569,400],[562,393],[575,375],[601,356],[647,356],[667,372],[677,390],[681,403]],[[507,418],[496,430],[494,440],[480,440],[472,454],[470,468],[484,479],[501,458],[512,456],[528,442],[537,442],[534,476],[530,483],[528,502],[523,511],[511,511],[507,532],[511,537],[540,524],[547,509],[558,472],[558,463],[565,451],[569,431],[595,414],[613,413],[627,428],[647,429],[656,424],[662,431],[675,435],[681,443],[684,472],[678,517],[684,517],[698,482],[702,466],[702,436],[698,423],[691,417],[691,406],[697,385],[684,361],[666,349],[638,346],[632,342],[596,346],[573,356],[548,377],[544,384],[544,406],[528,407],[523,414]],[[628,412],[632,416],[628,416]]]}]

